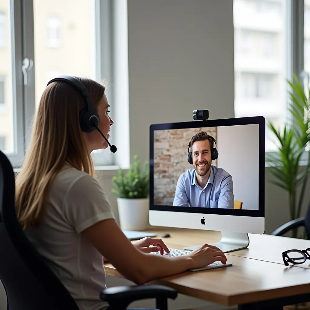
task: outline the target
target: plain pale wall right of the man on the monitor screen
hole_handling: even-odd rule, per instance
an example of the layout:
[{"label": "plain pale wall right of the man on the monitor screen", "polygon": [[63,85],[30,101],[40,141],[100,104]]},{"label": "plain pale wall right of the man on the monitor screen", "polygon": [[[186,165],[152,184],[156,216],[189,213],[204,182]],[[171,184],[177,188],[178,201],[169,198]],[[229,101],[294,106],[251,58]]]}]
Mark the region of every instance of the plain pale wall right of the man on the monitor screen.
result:
[{"label": "plain pale wall right of the man on the monitor screen", "polygon": [[258,140],[258,124],[217,127],[217,166],[232,175],[242,209],[258,210]]}]

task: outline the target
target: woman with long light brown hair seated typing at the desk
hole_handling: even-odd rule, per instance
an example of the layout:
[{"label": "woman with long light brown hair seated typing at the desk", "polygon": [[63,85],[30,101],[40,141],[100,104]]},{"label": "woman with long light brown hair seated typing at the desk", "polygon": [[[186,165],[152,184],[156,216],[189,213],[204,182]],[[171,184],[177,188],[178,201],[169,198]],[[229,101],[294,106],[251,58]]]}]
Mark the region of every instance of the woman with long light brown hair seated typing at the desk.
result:
[{"label": "woman with long light brown hair seated typing at the desk", "polygon": [[[78,81],[84,84],[98,113],[98,129],[108,139],[113,121],[108,115],[105,87],[86,78]],[[224,253],[213,246],[204,245],[189,255],[172,258],[148,254],[169,251],[160,239],[144,238],[132,244],[126,238],[95,179],[91,152],[108,144],[99,131],[83,129],[81,111],[85,108],[85,97],[75,86],[66,81],[48,84],[16,179],[18,220],[78,307],[108,307],[99,298],[106,287],[103,257],[136,284],[217,260],[225,263]]]}]

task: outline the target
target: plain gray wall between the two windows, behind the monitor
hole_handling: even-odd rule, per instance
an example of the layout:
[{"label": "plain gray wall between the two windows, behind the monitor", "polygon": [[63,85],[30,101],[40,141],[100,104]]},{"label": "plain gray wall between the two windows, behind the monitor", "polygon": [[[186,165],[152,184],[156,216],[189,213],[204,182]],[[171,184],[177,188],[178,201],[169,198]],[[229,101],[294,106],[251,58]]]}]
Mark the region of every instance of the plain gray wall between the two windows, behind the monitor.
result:
[{"label": "plain gray wall between the two windows, behind the monitor", "polygon": [[234,117],[232,0],[128,1],[131,156],[153,123]]}]

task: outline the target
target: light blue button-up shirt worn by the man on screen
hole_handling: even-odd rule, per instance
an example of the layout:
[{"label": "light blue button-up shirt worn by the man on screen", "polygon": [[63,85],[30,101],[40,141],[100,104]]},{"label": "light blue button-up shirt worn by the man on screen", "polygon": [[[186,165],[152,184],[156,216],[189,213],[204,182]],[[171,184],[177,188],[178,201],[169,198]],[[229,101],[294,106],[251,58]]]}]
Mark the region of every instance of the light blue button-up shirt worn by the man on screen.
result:
[{"label": "light blue button-up shirt worn by the man on screen", "polygon": [[211,166],[208,182],[201,188],[197,184],[195,169],[188,169],[178,179],[172,205],[233,209],[232,176],[222,168]]}]

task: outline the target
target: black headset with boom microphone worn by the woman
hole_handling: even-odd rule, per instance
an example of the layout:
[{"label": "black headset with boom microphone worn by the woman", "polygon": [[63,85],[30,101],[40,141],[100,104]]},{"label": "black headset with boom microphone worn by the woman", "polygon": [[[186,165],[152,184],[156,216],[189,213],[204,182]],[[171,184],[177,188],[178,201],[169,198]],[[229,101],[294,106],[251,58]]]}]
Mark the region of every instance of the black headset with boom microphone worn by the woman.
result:
[{"label": "black headset with boom microphone worn by the woman", "polygon": [[74,78],[74,77],[69,76],[69,75],[61,75],[59,77],[53,78],[53,79],[51,79],[51,81],[49,81],[47,83],[47,85],[49,85],[51,82],[67,82],[67,83],[70,83],[71,85],[73,85],[75,88],[77,88],[82,93],[83,97],[86,100],[86,107],[80,111],[80,115],[79,115],[80,127],[81,127],[82,131],[91,132],[91,131],[94,131],[95,129],[97,129],[100,132],[100,134],[104,137],[104,139],[107,141],[111,152],[115,153],[117,151],[116,146],[111,145],[109,143],[108,139],[104,136],[104,134],[98,128],[99,122],[100,122],[99,115],[98,115],[97,111],[94,109],[94,106],[91,102],[91,97],[89,96],[88,92],[86,91],[84,84],[81,81],[79,81],[77,78]]}]

